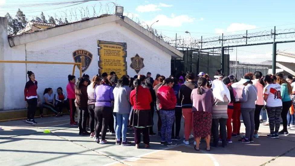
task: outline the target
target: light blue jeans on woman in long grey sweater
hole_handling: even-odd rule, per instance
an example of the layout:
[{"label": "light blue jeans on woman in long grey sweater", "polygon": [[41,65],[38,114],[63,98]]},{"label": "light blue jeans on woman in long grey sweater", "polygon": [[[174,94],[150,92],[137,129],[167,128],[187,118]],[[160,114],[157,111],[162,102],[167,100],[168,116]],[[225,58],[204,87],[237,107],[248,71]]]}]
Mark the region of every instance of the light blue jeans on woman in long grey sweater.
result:
[{"label": "light blue jeans on woman in long grey sweater", "polygon": [[121,133],[122,133],[122,141],[123,142],[126,141],[128,118],[129,118],[129,114],[116,113],[116,120],[115,119],[114,120],[117,122],[117,126],[115,128],[117,140],[120,140]]}]

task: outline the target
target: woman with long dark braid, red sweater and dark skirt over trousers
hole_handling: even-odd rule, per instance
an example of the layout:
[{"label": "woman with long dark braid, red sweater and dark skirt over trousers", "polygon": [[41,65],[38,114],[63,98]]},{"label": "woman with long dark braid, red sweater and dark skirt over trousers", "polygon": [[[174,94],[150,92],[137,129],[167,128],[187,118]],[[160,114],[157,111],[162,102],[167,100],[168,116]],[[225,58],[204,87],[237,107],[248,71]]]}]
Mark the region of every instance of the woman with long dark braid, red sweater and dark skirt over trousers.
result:
[{"label": "woman with long dark braid, red sweater and dark skirt over trousers", "polygon": [[134,127],[134,142],[136,148],[139,148],[140,133],[143,134],[144,148],[150,147],[149,128],[151,122],[151,106],[152,97],[150,90],[141,86],[141,80],[133,81],[135,90],[130,93],[130,103],[133,106],[131,113],[130,125]]}]

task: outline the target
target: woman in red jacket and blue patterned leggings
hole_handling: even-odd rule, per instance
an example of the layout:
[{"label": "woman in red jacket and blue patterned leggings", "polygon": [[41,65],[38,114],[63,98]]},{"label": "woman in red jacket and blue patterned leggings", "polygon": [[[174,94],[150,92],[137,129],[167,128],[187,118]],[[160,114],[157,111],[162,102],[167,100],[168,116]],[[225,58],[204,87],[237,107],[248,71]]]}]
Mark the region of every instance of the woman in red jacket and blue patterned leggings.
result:
[{"label": "woman in red jacket and blue patterned leggings", "polygon": [[171,140],[172,125],[174,123],[175,106],[177,102],[174,90],[172,89],[173,85],[173,79],[166,78],[157,91],[158,98],[160,99],[160,117],[162,121],[161,145],[167,144],[168,147],[177,145]]}]

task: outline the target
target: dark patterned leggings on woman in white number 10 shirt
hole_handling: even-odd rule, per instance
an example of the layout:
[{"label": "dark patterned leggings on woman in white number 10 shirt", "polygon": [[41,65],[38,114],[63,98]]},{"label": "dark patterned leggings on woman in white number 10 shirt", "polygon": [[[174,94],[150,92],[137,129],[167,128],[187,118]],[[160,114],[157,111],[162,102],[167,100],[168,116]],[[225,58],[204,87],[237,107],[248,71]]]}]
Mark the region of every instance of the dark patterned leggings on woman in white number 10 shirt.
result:
[{"label": "dark patterned leggings on woman in white number 10 shirt", "polygon": [[271,134],[278,133],[280,129],[280,116],[282,112],[282,106],[280,107],[268,107],[265,106],[267,116],[269,119],[269,129]]}]

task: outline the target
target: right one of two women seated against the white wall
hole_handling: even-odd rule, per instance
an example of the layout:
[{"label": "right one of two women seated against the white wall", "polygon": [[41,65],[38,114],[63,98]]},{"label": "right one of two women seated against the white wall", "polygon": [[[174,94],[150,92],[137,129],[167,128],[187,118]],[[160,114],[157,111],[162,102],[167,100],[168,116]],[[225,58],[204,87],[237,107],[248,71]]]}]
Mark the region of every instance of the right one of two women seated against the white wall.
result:
[{"label": "right one of two women seated against the white wall", "polygon": [[58,112],[60,112],[60,115],[63,116],[63,107],[66,107],[67,110],[70,110],[69,104],[67,102],[67,96],[66,93],[63,93],[63,88],[58,87],[57,93],[54,94],[55,99],[55,106],[58,109]]}]

